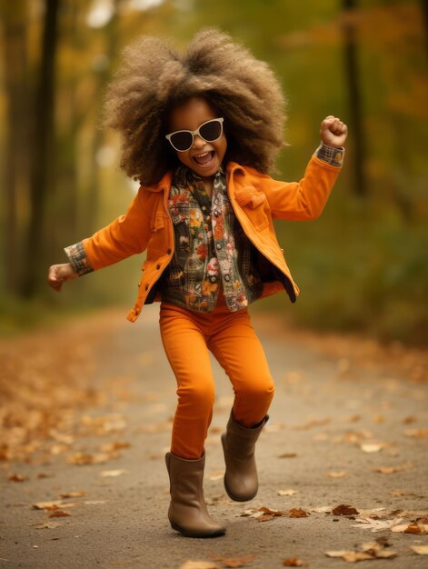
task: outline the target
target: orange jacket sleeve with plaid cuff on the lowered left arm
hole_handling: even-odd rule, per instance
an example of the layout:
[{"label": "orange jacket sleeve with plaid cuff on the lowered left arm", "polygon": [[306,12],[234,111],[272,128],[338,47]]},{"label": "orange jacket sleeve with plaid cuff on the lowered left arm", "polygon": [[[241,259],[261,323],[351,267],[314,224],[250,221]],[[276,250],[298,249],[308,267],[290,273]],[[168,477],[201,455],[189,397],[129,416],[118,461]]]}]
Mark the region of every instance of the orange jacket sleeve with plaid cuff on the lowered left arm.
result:
[{"label": "orange jacket sleeve with plaid cuff on the lowered left arm", "polygon": [[92,237],[65,248],[75,272],[85,275],[142,253],[151,235],[151,215],[144,207],[140,188],[126,214],[97,231]]}]

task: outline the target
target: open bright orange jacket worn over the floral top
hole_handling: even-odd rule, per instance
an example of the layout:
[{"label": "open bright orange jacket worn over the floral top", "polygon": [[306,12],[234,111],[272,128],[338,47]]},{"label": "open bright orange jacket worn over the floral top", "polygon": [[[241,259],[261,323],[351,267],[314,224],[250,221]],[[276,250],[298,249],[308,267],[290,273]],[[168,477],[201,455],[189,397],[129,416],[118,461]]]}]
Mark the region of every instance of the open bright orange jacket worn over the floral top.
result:
[{"label": "open bright orange jacket worn over the floral top", "polygon": [[[234,162],[227,165],[227,189],[234,213],[256,249],[277,269],[277,280],[264,284],[263,296],[285,289],[294,302],[299,294],[278,245],[273,218],[310,220],[318,217],[340,170],[314,155],[304,178],[287,183],[262,175],[249,166]],[[167,173],[157,185],[141,186],[125,215],[83,241],[85,254],[95,270],[146,250],[138,296],[128,314],[131,322],[137,319],[144,304],[160,299],[154,285],[173,255],[174,228],[167,208],[172,178],[172,173]]]}]

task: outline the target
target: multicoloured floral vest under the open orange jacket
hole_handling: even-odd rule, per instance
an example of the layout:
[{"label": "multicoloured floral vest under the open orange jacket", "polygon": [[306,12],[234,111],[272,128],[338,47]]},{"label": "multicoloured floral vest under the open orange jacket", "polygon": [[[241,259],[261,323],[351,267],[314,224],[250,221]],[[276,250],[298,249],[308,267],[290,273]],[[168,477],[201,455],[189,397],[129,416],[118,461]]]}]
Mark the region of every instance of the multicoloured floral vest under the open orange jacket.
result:
[{"label": "multicoloured floral vest under the open orange jacket", "polygon": [[210,313],[223,286],[225,304],[235,312],[262,294],[257,252],[234,215],[223,169],[214,176],[210,199],[201,178],[180,166],[168,208],[175,247],[162,278],[164,302]]}]

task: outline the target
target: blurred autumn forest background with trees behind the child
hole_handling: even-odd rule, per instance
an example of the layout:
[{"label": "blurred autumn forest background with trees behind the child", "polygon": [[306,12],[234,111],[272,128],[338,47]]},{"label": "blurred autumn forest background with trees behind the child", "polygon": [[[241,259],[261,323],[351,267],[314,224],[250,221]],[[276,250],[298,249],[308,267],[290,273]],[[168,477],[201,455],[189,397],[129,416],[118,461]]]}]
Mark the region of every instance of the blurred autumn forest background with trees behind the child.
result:
[{"label": "blurred autumn forest background with trees behind the child", "polygon": [[302,295],[293,306],[281,294],[256,309],[281,311],[294,325],[427,343],[426,0],[0,2],[0,334],[132,305],[141,258],[62,294],[45,284],[47,267],[133,198],[119,141],[101,128],[105,85],[124,45],[149,34],[184,47],[216,26],[269,62],[284,85],[289,146],[276,177],[303,176],[325,115],[350,127],[323,216],[277,225]]}]

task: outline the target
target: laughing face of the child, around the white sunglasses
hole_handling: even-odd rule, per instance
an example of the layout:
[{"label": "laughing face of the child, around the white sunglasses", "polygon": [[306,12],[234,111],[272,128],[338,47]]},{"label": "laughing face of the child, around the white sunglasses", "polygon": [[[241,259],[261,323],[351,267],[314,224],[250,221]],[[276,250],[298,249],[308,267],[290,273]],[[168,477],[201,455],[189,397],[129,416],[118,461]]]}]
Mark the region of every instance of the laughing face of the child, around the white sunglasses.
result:
[{"label": "laughing face of the child, around the white sunglasses", "polygon": [[[220,115],[201,97],[193,97],[171,111],[168,132],[177,130],[194,131],[199,126]],[[169,144],[169,143],[168,143]],[[180,162],[188,166],[195,174],[204,178],[214,176],[223,162],[227,143],[224,132],[214,142],[205,142],[199,135],[194,135],[194,144],[184,152],[176,152]]]}]

